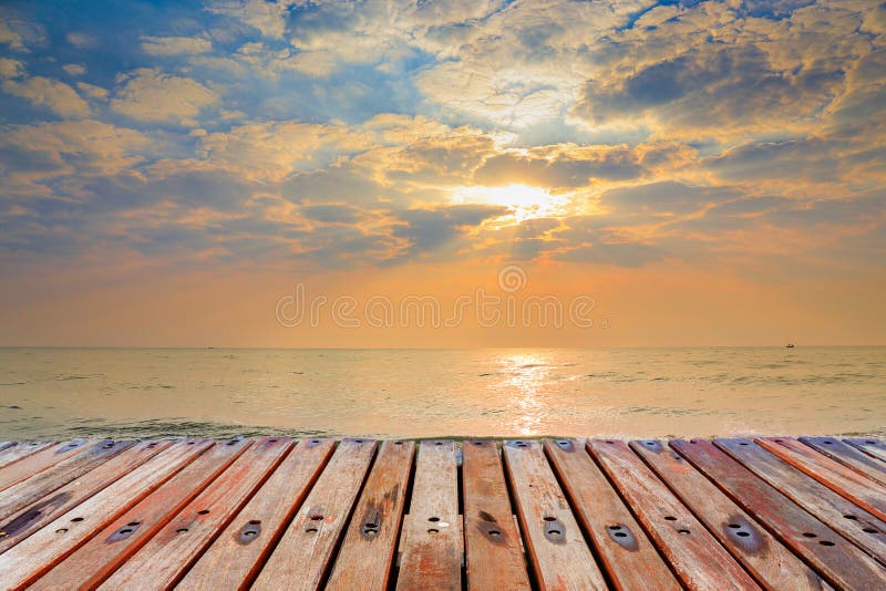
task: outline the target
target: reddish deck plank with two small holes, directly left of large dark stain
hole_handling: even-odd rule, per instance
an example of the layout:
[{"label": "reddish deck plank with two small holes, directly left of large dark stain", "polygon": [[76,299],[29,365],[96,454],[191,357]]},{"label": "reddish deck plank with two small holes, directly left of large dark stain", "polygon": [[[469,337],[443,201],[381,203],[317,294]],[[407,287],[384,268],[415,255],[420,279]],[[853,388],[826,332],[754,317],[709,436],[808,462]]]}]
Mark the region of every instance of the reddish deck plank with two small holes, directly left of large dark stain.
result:
[{"label": "reddish deck plank with two small holes, directly left of large dark stain", "polygon": [[689,589],[760,589],[624,442],[591,439],[587,448]]}]

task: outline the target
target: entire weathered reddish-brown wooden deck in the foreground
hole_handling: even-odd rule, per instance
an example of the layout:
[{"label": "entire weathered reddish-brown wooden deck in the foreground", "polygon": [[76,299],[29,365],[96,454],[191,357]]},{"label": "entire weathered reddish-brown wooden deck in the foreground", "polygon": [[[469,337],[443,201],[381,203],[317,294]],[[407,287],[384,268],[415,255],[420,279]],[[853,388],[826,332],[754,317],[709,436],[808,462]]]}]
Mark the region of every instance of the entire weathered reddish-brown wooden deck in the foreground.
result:
[{"label": "entire weathered reddish-brown wooden deck in the foreground", "polygon": [[886,444],[0,442],[0,587],[886,589]]}]

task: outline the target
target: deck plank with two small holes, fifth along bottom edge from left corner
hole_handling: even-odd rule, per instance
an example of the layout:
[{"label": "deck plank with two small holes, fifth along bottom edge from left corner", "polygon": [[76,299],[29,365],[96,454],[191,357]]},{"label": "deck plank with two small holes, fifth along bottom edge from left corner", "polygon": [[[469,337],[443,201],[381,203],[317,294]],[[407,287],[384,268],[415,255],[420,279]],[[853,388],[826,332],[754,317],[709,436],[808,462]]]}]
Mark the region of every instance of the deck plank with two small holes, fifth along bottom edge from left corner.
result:
[{"label": "deck plank with two small holes, fifth along bottom edge from left corner", "polygon": [[317,589],[363,484],[375,442],[343,439],[253,589]]}]

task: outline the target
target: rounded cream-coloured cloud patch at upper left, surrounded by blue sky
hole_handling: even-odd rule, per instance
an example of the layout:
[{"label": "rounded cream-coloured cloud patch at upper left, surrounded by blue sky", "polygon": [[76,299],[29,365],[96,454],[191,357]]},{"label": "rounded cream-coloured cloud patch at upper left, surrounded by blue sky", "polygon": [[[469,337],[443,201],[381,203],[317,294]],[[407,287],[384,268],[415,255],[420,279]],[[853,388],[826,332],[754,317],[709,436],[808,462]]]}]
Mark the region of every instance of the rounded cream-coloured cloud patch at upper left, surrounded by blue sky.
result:
[{"label": "rounded cream-coloured cloud patch at upper left, surrounded by blue sky", "polygon": [[136,121],[196,125],[200,112],[219,103],[218,93],[194,80],[142,68],[117,76],[111,108]]}]

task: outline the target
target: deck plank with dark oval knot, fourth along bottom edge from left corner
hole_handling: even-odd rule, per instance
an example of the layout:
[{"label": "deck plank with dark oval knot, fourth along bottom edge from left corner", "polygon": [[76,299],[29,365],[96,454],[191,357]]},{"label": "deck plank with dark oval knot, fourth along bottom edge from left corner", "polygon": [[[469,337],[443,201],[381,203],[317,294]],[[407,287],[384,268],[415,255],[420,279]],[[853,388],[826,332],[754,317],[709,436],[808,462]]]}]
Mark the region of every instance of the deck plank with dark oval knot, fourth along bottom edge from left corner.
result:
[{"label": "deck plank with dark oval knot, fourth along bottom edge from left corner", "polygon": [[176,585],[193,589],[248,589],[284,528],[320,475],[333,439],[305,439]]}]

